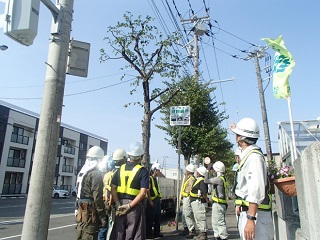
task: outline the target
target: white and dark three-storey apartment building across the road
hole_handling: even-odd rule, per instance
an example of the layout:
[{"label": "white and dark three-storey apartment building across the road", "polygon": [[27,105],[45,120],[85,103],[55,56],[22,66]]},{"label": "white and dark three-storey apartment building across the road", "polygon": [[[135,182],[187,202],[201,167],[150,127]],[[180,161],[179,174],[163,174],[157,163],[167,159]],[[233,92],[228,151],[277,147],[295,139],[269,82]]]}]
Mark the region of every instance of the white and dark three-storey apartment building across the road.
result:
[{"label": "white and dark three-storey apartment building across the road", "polygon": [[[38,124],[39,114],[0,101],[0,196],[28,193]],[[106,153],[108,140],[62,123],[52,184],[71,191],[94,145]]]}]

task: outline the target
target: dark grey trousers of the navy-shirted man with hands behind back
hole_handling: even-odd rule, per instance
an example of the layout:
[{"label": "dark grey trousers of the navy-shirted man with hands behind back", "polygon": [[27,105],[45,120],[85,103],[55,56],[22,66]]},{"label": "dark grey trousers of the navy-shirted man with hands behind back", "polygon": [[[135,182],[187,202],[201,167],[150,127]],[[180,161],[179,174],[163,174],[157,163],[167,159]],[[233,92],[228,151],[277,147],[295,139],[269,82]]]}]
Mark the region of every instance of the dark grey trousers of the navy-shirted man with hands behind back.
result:
[{"label": "dark grey trousers of the navy-shirted man with hands behind back", "polygon": [[[128,204],[132,200],[123,199],[121,204]],[[134,206],[122,216],[116,216],[115,227],[117,240],[145,240],[146,239],[146,214],[142,203]]]}]

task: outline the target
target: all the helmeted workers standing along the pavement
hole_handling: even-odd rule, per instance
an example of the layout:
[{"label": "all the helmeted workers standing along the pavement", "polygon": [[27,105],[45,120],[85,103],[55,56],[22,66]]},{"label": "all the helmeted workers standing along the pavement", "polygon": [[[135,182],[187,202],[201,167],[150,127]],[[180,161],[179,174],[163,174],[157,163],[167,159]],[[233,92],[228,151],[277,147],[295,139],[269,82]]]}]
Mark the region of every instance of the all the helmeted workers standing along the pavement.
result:
[{"label": "all the helmeted workers standing along the pavement", "polygon": [[[265,158],[256,145],[259,127],[253,119],[244,118],[237,125],[233,123],[230,129],[236,135],[240,151],[234,188],[240,236],[243,240],[272,240],[270,184]],[[160,166],[153,164],[149,172],[141,165],[143,154],[140,143],[131,144],[128,154],[117,149],[109,162],[112,170],[103,179],[98,165],[104,152],[97,146],[89,149],[77,178],[78,240],[144,240],[163,236],[160,233],[161,191],[156,180]],[[213,174],[209,174],[211,171]],[[221,161],[196,169],[192,164],[186,166],[181,187],[182,235],[186,238],[208,239],[206,206],[208,185],[211,185],[214,237],[228,239],[224,172]]]}]

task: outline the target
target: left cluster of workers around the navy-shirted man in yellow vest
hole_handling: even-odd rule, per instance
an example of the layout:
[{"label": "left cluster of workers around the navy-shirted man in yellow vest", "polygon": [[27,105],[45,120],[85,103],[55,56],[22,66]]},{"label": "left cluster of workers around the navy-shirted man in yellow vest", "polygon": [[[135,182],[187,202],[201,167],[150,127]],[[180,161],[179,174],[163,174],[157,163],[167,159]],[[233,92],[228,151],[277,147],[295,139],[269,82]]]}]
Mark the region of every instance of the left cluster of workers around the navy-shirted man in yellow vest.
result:
[{"label": "left cluster of workers around the navy-shirted man in yellow vest", "polygon": [[128,153],[120,148],[112,156],[104,156],[98,146],[88,150],[77,178],[78,240],[144,240],[163,236],[161,192],[156,181],[160,165],[153,164],[149,172],[141,165],[143,154],[138,142],[129,146]]}]

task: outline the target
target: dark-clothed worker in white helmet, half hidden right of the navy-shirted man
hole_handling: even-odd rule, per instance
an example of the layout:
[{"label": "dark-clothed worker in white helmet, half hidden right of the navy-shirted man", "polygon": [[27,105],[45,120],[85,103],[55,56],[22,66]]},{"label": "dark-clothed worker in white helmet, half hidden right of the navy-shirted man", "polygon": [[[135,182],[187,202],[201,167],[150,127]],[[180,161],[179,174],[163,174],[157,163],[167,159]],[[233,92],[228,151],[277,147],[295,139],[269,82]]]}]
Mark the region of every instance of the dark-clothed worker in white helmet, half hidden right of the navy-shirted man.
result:
[{"label": "dark-clothed worker in white helmet, half hidden right of the navy-shirted man", "polygon": [[[159,163],[154,163],[150,169],[149,189],[147,191],[147,212],[146,212],[146,234],[147,239],[163,237],[160,233],[160,217],[161,217],[161,203],[162,197],[157,177],[160,175],[161,169]],[[153,235],[152,235],[153,228]]]}]

